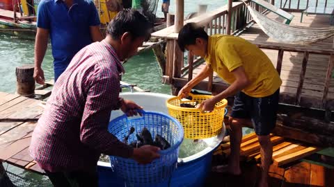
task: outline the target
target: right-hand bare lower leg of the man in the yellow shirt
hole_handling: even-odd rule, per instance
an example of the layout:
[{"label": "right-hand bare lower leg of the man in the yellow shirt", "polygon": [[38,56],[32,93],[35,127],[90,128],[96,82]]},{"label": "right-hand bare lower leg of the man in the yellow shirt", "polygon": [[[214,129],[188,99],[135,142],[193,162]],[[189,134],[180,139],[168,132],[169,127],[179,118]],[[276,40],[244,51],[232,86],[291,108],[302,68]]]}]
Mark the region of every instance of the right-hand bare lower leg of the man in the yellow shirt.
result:
[{"label": "right-hand bare lower leg of the man in the yellow shirt", "polygon": [[268,171],[273,157],[273,144],[270,136],[257,136],[260,142],[261,150],[261,179],[259,187],[268,187]]}]

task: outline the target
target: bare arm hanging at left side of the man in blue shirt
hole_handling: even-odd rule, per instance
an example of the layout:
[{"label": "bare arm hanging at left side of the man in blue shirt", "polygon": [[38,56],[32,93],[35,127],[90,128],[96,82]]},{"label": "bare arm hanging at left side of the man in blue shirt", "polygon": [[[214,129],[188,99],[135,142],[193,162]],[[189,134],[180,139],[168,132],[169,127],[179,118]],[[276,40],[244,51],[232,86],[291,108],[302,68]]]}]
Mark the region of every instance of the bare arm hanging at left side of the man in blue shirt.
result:
[{"label": "bare arm hanging at left side of the man in blue shirt", "polygon": [[42,62],[47,51],[47,39],[49,38],[49,30],[45,28],[37,28],[37,34],[35,37],[35,69],[33,72],[33,78],[35,78],[38,84],[44,84],[44,72],[42,70]]}]

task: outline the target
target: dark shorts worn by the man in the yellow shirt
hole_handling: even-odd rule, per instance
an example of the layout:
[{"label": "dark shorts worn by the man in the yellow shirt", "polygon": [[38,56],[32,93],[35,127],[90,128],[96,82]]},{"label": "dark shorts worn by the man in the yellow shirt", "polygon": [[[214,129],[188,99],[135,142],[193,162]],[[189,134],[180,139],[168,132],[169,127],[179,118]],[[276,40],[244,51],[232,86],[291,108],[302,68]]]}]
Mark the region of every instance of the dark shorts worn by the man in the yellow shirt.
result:
[{"label": "dark shorts worn by the man in the yellow shirt", "polygon": [[263,98],[253,98],[240,91],[234,97],[230,116],[250,118],[257,135],[269,135],[276,125],[279,96],[279,89],[274,94]]}]

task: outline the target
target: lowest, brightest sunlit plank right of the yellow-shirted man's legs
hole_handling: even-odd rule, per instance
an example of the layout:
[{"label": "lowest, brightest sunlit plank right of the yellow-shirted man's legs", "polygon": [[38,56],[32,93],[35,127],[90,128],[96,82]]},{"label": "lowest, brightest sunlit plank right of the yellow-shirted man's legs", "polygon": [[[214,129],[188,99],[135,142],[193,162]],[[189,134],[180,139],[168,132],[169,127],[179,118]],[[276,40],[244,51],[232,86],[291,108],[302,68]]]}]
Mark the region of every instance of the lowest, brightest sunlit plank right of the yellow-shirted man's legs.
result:
[{"label": "lowest, brightest sunlit plank right of the yellow-shirted man's legs", "polygon": [[313,153],[315,153],[319,150],[321,150],[321,149],[320,148],[315,148],[315,147],[305,148],[303,150],[299,150],[297,152],[287,154],[283,157],[279,157],[277,159],[274,159],[273,163],[276,164],[277,166],[282,166],[286,163],[290,163],[292,161],[296,161],[296,160],[301,159],[303,157],[307,157],[308,155],[313,154]]}]

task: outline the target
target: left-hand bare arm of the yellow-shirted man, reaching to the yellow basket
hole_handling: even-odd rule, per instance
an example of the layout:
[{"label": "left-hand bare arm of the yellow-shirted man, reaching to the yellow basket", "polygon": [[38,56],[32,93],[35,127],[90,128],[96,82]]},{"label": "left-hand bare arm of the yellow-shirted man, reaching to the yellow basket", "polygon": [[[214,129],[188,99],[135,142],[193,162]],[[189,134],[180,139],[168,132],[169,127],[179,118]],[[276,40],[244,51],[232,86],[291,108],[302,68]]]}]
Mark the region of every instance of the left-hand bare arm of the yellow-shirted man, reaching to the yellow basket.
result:
[{"label": "left-hand bare arm of the yellow-shirted man, reaching to the yellow basket", "polygon": [[186,97],[190,93],[191,89],[196,86],[200,81],[207,78],[212,73],[212,69],[206,64],[205,67],[196,75],[195,78],[191,79],[184,87],[179,91],[178,96]]}]

